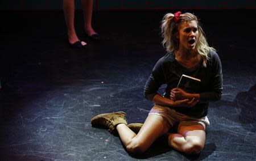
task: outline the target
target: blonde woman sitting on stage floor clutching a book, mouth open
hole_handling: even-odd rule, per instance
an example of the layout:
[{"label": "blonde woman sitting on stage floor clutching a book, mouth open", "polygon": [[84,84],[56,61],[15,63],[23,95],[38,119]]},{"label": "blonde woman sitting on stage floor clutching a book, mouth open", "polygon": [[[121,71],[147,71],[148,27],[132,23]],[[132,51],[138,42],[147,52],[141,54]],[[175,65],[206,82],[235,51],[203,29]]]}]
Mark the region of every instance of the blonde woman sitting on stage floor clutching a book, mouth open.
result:
[{"label": "blonde woman sitting on stage floor clutching a book, mouth open", "polygon": [[[156,62],[144,87],[145,98],[155,103],[144,124],[127,125],[125,112],[115,112],[93,117],[92,126],[118,133],[131,153],[142,153],[165,136],[175,150],[197,154],[204,147],[205,127],[210,124],[208,103],[221,99],[220,58],[208,46],[197,17],[191,13],[166,14],[162,36],[168,53]],[[201,80],[195,93],[177,88],[183,74]],[[166,92],[161,95],[158,89],[163,84]],[[175,127],[176,133],[170,133]]]}]

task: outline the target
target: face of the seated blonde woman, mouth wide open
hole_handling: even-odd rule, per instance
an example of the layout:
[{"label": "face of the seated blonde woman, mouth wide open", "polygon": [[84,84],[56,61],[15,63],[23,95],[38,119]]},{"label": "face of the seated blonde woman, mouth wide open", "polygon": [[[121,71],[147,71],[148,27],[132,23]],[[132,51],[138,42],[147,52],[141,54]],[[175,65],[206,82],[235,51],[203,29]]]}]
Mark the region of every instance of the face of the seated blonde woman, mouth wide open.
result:
[{"label": "face of the seated blonde woman, mouth wide open", "polygon": [[189,22],[181,22],[179,24],[177,39],[179,41],[179,48],[193,50],[196,48],[199,32],[196,20]]}]

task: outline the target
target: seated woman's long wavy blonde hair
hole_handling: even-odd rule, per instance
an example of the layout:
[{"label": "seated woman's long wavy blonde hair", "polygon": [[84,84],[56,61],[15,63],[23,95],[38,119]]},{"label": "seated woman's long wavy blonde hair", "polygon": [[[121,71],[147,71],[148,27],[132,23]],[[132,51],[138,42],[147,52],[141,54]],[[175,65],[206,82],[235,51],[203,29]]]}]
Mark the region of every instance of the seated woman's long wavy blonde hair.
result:
[{"label": "seated woman's long wavy blonde hair", "polygon": [[174,20],[174,14],[166,14],[162,20],[161,30],[163,41],[162,44],[166,48],[167,52],[174,52],[179,48],[179,40],[176,36],[178,33],[178,27],[181,22],[188,22],[191,20],[196,20],[197,28],[199,31],[199,38],[196,43],[196,51],[203,58],[204,67],[207,66],[207,60],[209,59],[209,50],[215,50],[210,47],[205,38],[205,33],[199,24],[197,17],[189,12],[181,14],[177,21]]}]

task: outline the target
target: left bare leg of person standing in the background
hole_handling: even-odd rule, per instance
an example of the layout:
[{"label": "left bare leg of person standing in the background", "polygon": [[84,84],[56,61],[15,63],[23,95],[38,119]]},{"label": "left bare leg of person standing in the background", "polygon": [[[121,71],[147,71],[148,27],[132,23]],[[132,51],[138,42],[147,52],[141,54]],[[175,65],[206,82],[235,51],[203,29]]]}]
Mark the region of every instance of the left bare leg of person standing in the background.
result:
[{"label": "left bare leg of person standing in the background", "polygon": [[[68,41],[73,44],[76,41],[79,41],[79,38],[76,35],[74,18],[75,18],[75,3],[74,0],[63,0],[63,11],[65,16],[65,22],[68,29]],[[84,41],[82,41],[82,45],[86,45]]]}]

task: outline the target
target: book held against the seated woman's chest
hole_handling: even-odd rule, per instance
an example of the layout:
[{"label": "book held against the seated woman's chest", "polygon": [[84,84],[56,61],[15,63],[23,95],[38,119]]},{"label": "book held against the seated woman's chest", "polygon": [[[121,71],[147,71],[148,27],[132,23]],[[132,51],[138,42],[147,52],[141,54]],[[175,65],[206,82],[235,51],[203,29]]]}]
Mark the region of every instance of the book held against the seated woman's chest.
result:
[{"label": "book held against the seated woman's chest", "polygon": [[200,86],[200,82],[200,79],[182,74],[177,88],[181,88],[189,94],[195,94]]}]

